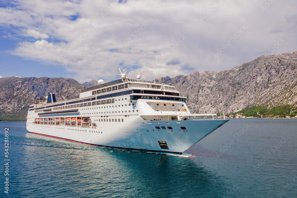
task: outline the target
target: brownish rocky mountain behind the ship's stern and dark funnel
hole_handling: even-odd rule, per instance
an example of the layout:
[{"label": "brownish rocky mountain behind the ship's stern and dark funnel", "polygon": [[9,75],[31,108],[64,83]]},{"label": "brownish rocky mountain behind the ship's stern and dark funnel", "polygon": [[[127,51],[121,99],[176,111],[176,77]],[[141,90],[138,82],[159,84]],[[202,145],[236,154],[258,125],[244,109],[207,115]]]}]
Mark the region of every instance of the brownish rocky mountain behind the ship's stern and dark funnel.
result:
[{"label": "brownish rocky mountain behind the ship's stern and dark funnel", "polygon": [[76,80],[66,78],[0,78],[0,121],[26,120],[29,105],[48,92],[54,92],[61,101],[78,95],[83,88]]}]

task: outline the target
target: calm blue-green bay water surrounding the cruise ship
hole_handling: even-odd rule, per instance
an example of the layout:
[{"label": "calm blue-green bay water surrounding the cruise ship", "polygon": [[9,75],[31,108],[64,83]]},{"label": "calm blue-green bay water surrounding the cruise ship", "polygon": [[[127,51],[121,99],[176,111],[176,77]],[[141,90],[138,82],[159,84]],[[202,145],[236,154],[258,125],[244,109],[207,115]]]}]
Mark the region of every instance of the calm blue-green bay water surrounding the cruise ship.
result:
[{"label": "calm blue-green bay water surrounding the cruise ship", "polygon": [[297,119],[231,119],[186,151],[196,157],[99,148],[1,122],[1,164],[5,127],[9,194],[1,165],[0,197],[297,197]]}]

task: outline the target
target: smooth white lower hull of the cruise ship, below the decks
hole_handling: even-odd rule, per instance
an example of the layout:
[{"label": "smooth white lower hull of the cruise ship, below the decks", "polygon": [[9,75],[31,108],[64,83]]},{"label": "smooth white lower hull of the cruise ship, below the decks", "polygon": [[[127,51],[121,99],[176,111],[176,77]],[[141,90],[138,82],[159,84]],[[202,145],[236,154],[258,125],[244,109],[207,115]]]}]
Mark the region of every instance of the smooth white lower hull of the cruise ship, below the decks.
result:
[{"label": "smooth white lower hull of the cruise ship, below the decks", "polygon": [[[182,154],[229,120],[143,121],[135,115],[129,121],[125,125],[98,122],[97,129],[28,123],[27,129],[34,134],[95,146]],[[166,142],[167,147],[161,148],[159,141]]]}]

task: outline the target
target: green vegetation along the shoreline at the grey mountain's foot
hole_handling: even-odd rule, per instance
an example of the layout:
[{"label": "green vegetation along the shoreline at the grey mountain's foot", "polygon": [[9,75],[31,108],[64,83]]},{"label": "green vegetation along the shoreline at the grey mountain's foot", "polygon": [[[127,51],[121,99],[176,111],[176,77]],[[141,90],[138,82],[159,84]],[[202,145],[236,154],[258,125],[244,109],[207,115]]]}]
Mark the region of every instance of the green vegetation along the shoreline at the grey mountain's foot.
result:
[{"label": "green vegetation along the shoreline at the grey mountain's foot", "polygon": [[[263,115],[264,118],[274,118],[277,116],[278,118],[285,118],[286,116],[294,117],[297,115],[297,109],[294,105],[282,105],[273,107],[272,109],[267,109],[268,105],[262,107],[252,107],[251,109],[243,109],[236,113],[231,113],[232,115],[242,114],[245,116],[253,116],[253,117],[261,117]],[[291,110],[293,110],[292,113]],[[228,114],[230,115],[230,114]]]}]

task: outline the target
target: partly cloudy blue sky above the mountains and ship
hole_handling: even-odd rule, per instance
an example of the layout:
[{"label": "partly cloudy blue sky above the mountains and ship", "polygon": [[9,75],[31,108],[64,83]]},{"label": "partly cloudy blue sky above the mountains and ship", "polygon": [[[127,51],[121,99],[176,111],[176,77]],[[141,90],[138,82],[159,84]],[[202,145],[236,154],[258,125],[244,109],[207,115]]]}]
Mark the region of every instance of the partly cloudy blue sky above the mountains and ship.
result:
[{"label": "partly cloudy blue sky above the mountains and ship", "polygon": [[296,0],[1,0],[0,76],[116,80],[297,50]]}]

